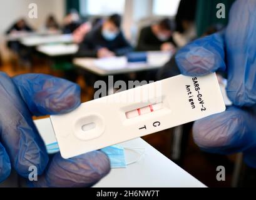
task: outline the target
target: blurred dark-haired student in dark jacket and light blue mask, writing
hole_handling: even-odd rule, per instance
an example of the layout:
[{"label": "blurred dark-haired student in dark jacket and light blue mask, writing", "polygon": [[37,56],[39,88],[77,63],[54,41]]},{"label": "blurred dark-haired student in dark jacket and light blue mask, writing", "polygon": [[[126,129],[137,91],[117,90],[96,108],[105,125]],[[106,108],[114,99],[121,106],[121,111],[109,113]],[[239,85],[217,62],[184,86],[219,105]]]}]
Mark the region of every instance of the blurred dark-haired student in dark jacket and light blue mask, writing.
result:
[{"label": "blurred dark-haired student in dark jacket and light blue mask, writing", "polygon": [[113,14],[86,34],[76,56],[105,58],[122,56],[130,51],[132,47],[121,31],[121,16]]}]

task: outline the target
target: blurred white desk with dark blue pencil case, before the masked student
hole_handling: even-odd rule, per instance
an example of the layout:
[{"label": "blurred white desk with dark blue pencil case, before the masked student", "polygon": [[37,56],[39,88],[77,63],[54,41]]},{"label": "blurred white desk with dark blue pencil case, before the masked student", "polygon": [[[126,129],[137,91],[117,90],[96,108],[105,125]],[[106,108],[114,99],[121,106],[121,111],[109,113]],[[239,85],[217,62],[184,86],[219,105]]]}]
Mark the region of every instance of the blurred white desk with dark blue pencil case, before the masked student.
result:
[{"label": "blurred white desk with dark blue pencil case, before the masked student", "polygon": [[106,76],[161,68],[170,60],[171,56],[170,52],[149,51],[146,63],[128,63],[125,56],[101,59],[75,58],[73,63],[100,76]]}]

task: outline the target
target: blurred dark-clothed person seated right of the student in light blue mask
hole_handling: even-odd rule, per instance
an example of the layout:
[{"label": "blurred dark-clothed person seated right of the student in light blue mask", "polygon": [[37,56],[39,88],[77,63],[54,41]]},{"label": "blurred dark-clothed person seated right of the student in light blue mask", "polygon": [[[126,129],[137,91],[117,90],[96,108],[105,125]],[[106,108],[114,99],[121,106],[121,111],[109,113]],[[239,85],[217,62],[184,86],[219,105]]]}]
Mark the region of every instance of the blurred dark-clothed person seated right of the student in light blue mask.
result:
[{"label": "blurred dark-clothed person seated right of the student in light blue mask", "polygon": [[138,39],[137,51],[175,51],[173,41],[175,23],[170,19],[162,19],[156,24],[143,27]]}]

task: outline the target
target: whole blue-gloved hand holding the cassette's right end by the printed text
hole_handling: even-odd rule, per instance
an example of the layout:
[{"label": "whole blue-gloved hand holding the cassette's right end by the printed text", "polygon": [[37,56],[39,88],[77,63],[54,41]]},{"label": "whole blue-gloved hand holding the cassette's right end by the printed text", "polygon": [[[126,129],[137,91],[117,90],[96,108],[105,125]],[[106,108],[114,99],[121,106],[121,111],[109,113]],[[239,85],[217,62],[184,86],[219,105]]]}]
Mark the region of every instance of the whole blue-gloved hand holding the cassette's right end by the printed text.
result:
[{"label": "whole blue-gloved hand holding the cassette's right end by the printed text", "polygon": [[233,106],[195,122],[193,138],[205,151],[243,152],[256,168],[256,1],[237,0],[223,32],[198,39],[176,56],[182,74],[202,76],[227,70],[227,95]]}]

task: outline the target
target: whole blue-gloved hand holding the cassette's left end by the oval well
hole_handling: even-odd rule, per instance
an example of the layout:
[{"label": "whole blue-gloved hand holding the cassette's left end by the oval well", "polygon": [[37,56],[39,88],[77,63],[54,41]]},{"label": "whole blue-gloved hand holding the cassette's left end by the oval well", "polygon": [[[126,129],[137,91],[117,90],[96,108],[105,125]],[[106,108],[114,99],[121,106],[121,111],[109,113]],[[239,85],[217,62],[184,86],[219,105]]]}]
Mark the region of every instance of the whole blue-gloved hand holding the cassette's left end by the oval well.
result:
[{"label": "whole blue-gloved hand holding the cassette's left end by the oval well", "polygon": [[0,182],[11,168],[28,178],[36,166],[38,181],[30,186],[92,186],[110,171],[101,151],[63,159],[48,158],[32,116],[67,113],[80,104],[79,86],[44,74],[24,74],[13,79],[0,73]]}]

